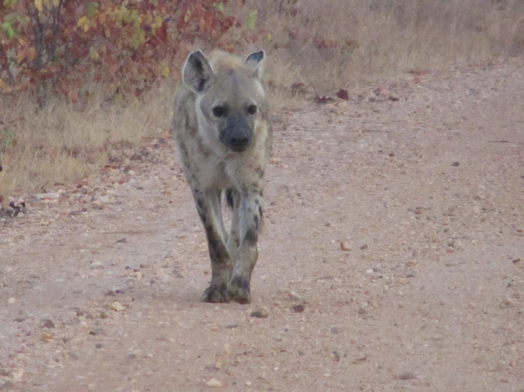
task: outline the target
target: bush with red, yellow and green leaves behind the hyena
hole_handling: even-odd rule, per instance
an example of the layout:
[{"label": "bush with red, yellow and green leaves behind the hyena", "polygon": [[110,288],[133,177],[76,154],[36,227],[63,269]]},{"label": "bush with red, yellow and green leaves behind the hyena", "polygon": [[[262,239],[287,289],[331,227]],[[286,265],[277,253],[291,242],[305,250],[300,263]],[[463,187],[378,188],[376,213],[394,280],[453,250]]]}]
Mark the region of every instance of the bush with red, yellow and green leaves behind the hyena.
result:
[{"label": "bush with red, yellow and green leaves behind the hyena", "polygon": [[[234,23],[226,1],[4,0],[0,8],[2,92],[35,91],[72,102],[89,82],[111,99],[139,96],[187,55],[181,42],[217,45]],[[179,60],[179,61],[177,61]]]}]

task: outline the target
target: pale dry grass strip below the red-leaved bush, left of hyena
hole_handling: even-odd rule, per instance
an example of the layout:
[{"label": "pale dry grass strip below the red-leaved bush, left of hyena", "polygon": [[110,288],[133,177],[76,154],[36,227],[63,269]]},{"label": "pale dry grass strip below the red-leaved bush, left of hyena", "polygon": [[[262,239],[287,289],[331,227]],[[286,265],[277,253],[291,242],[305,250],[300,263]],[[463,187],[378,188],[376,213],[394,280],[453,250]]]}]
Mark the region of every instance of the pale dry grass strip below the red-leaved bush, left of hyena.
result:
[{"label": "pale dry grass strip below the red-leaved bush, left of hyena", "polygon": [[85,108],[61,101],[40,109],[31,97],[0,102],[0,197],[42,192],[107,163],[115,149],[134,148],[169,129],[172,85],[128,107],[94,97]]}]

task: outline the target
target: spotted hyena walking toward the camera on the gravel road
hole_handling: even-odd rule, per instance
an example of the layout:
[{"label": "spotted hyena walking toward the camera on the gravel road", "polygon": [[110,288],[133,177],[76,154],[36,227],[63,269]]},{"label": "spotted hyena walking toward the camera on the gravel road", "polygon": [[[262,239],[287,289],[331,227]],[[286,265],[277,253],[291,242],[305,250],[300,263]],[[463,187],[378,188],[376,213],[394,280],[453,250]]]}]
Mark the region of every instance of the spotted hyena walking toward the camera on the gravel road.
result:
[{"label": "spotted hyena walking toward the camera on the gravel road", "polygon": [[[268,105],[260,82],[264,52],[246,60],[197,50],[185,61],[172,132],[208,238],[211,284],[202,300],[247,303],[257,262],[264,170],[271,152]],[[231,230],[222,198],[232,208]]]}]

